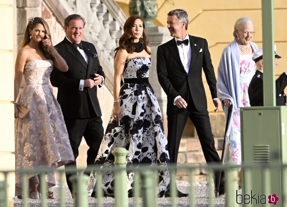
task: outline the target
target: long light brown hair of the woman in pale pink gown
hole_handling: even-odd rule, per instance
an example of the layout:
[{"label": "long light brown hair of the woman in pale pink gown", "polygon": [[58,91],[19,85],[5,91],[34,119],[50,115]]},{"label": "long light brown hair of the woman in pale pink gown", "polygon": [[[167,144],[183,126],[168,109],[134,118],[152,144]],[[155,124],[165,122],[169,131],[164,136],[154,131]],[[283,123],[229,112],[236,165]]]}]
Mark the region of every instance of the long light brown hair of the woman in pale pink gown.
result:
[{"label": "long light brown hair of the woman in pale pink gown", "polygon": [[[41,17],[34,17],[33,22],[31,22],[31,21],[28,22],[28,25],[26,27],[22,43],[20,44],[18,49],[21,49],[22,47],[24,47],[26,44],[28,44],[31,41],[29,29],[33,30],[35,25],[37,25],[38,23],[43,25],[44,30],[46,31],[46,34],[49,36],[50,39],[52,39],[50,30],[49,30],[49,26],[48,26],[47,22]],[[54,56],[51,54],[52,51],[49,51],[49,49],[47,47],[44,47],[42,41],[39,43],[39,49],[44,54],[45,58],[47,58],[47,59],[54,59]]]}]

